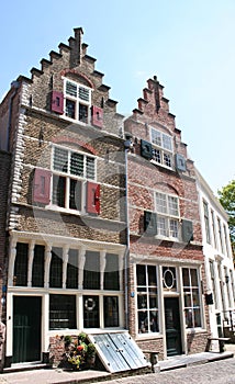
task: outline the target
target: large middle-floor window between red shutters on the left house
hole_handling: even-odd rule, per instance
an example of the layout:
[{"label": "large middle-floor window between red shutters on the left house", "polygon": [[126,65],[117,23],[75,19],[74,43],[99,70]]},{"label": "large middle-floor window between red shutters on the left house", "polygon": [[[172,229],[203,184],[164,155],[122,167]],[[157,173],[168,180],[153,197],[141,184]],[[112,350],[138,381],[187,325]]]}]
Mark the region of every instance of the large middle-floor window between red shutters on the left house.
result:
[{"label": "large middle-floor window between red shutters on the left house", "polygon": [[53,150],[52,203],[59,207],[82,211],[85,181],[96,179],[96,159],[61,147]]}]

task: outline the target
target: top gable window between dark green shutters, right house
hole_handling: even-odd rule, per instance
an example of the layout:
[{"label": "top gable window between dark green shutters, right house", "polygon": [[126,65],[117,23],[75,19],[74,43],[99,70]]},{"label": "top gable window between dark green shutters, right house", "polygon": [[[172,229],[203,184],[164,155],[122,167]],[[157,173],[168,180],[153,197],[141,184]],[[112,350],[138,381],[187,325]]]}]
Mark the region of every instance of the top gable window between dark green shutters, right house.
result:
[{"label": "top gable window between dark green shutters, right house", "polygon": [[153,160],[167,168],[172,168],[172,138],[152,128]]}]

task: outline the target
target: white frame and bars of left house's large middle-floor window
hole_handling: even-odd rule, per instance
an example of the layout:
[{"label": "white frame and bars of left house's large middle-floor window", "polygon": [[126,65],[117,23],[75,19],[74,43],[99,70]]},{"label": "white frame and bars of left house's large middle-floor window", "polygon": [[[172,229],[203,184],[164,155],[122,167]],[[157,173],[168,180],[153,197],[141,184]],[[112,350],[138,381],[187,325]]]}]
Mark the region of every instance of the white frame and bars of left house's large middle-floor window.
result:
[{"label": "white frame and bars of left house's large middle-floor window", "polygon": [[[59,169],[55,169],[55,153],[56,149],[60,149],[64,151],[67,151],[67,170],[59,170]],[[82,174],[75,174],[71,172],[71,158],[72,155],[77,154],[82,156]],[[92,171],[91,173],[93,174],[93,178],[90,177],[90,174],[88,174],[88,159],[93,159],[93,167],[92,167]],[[58,211],[65,211],[65,212],[70,212],[72,214],[83,214],[86,213],[86,200],[87,200],[87,182],[91,181],[93,183],[97,182],[97,157],[91,155],[91,154],[87,154],[83,153],[81,150],[74,150],[71,148],[68,147],[64,147],[64,146],[59,146],[59,145],[53,145],[52,146],[52,158],[51,158],[51,172],[52,172],[52,180],[51,180],[51,203],[49,203],[49,207],[53,210],[58,210]],[[57,181],[57,187],[54,187],[54,180],[58,178]],[[65,180],[64,183],[64,194],[63,194],[63,201],[64,203],[61,205],[58,204],[58,188],[63,188],[58,187],[58,182],[59,180]],[[75,181],[76,183],[80,182],[80,200],[79,200],[79,206],[78,208],[74,208],[70,207],[72,204],[72,196],[75,193],[72,193],[72,189],[71,189],[71,181]],[[55,196],[55,195],[56,196]],[[57,204],[55,203],[55,199],[57,199]],[[75,201],[76,203],[76,201]]]}]

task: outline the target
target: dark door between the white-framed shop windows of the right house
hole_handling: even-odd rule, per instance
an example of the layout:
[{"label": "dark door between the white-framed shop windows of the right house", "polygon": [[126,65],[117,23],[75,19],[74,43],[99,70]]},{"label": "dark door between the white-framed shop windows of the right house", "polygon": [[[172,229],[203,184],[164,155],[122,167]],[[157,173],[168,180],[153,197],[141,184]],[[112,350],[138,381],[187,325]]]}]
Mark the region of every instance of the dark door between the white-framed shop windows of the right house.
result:
[{"label": "dark door between the white-framed shop windows of the right house", "polygon": [[165,324],[167,355],[182,353],[181,328],[179,316],[179,300],[177,297],[165,298]]}]

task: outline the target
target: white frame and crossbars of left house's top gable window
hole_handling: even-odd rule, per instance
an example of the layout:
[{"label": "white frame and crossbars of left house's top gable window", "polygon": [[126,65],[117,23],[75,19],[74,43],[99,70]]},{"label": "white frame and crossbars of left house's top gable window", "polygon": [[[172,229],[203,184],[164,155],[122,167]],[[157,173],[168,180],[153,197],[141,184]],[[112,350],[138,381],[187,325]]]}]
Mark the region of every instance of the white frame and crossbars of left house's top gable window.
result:
[{"label": "white frame and crossbars of left house's top gable window", "polygon": [[[67,93],[67,91],[66,91],[67,82],[70,82],[74,87],[77,88],[77,95],[72,95],[72,94]],[[88,91],[88,94],[89,94],[88,101],[80,98],[80,95],[79,95],[80,89],[85,89]],[[64,78],[64,116],[66,118],[71,120],[71,121],[77,121],[77,122],[79,122],[79,124],[90,124],[90,121],[91,121],[91,91],[92,91],[92,89],[87,87],[87,86],[83,86],[83,84],[76,82],[74,80]],[[70,100],[70,101],[75,102],[75,117],[74,118],[66,114],[67,113],[66,112],[66,100]],[[87,122],[79,120],[79,105],[80,104],[87,106],[87,110],[88,110]]]}]

